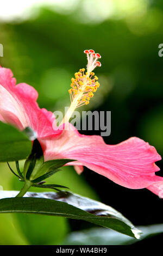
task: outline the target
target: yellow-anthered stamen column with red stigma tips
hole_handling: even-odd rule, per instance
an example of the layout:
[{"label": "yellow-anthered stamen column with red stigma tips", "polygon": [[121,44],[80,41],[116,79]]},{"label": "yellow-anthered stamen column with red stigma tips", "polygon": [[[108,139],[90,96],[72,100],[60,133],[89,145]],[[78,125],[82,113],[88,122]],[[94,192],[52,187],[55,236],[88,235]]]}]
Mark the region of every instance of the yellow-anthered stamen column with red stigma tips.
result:
[{"label": "yellow-anthered stamen column with red stigma tips", "polygon": [[95,53],[93,50],[85,50],[87,56],[87,70],[80,69],[79,72],[74,74],[75,78],[72,78],[70,93],[71,105],[65,114],[61,124],[67,123],[71,118],[74,110],[83,105],[87,105],[90,102],[90,98],[93,97],[93,93],[96,92],[99,87],[98,77],[92,72],[96,66],[101,66],[101,63],[97,60],[101,58],[99,53]]}]

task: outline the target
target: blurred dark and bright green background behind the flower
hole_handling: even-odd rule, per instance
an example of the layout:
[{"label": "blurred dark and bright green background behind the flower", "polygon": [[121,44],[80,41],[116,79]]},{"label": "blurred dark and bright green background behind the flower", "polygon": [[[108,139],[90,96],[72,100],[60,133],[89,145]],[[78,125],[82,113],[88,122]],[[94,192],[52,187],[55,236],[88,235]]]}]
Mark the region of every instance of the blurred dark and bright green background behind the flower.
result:
[{"label": "blurred dark and bright green background behind the flower", "polygon": [[[17,83],[35,87],[40,107],[63,110],[70,104],[71,77],[86,65],[83,50],[92,48],[102,56],[102,67],[96,70],[101,87],[80,111],[111,111],[111,135],[104,137],[106,143],[138,136],[163,155],[163,57],[158,56],[163,43],[163,2],[65,0],[40,6],[34,1],[35,5],[28,4],[29,10],[27,1],[20,2],[14,1],[13,9],[9,5],[9,14],[3,8],[0,11],[1,65],[12,70]],[[7,164],[0,169],[0,189],[19,190],[22,184]],[[136,225],[162,222],[161,200],[149,191],[128,190],[90,170],[78,176],[72,167],[49,179],[54,181],[115,207]],[[57,245],[71,231],[89,227],[61,217],[1,214],[0,244]]]}]

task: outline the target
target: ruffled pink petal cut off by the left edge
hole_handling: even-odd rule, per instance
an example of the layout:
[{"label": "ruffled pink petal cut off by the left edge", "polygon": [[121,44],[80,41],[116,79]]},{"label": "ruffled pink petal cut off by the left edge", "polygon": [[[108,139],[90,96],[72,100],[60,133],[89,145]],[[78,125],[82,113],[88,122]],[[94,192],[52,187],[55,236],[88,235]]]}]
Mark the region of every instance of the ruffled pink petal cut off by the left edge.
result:
[{"label": "ruffled pink petal cut off by the left edge", "polygon": [[26,83],[16,86],[9,69],[0,68],[0,119],[23,130],[31,127],[38,137],[53,138],[60,130],[53,129],[55,117],[52,112],[40,109],[37,91]]}]

